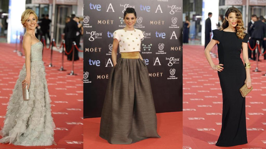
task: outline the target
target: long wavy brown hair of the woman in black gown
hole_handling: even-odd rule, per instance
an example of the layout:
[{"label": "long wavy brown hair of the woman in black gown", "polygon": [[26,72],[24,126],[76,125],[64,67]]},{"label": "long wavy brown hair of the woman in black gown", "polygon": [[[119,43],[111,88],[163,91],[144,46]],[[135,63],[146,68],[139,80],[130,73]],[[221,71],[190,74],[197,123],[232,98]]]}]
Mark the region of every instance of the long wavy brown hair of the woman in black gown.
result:
[{"label": "long wavy brown hair of the woman in black gown", "polygon": [[[226,18],[228,19],[228,15],[231,13],[231,12],[234,12],[235,15],[236,15],[236,18],[237,18],[237,21],[236,21],[236,36],[239,38],[239,39],[243,39],[245,37],[245,33],[244,31],[246,30],[244,28],[244,22],[242,20],[242,14],[241,12],[238,10],[238,8],[235,8],[235,7],[230,7],[227,9],[227,11],[225,12],[225,16]],[[229,26],[229,23],[226,19],[223,20],[223,24],[222,24],[222,28],[221,30],[227,28]]]}]

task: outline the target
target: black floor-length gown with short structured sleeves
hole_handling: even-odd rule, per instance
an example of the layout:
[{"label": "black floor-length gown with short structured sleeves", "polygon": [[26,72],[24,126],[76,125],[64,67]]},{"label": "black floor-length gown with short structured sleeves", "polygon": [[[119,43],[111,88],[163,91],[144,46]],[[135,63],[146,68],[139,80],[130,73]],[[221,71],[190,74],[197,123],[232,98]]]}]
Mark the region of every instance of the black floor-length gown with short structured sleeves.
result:
[{"label": "black floor-length gown with short structured sleeves", "polygon": [[246,69],[240,58],[242,42],[248,42],[249,35],[239,39],[236,32],[213,30],[213,40],[218,45],[219,64],[223,71],[218,71],[223,93],[222,129],[216,146],[236,146],[247,143],[245,98],[239,89],[245,84]]}]

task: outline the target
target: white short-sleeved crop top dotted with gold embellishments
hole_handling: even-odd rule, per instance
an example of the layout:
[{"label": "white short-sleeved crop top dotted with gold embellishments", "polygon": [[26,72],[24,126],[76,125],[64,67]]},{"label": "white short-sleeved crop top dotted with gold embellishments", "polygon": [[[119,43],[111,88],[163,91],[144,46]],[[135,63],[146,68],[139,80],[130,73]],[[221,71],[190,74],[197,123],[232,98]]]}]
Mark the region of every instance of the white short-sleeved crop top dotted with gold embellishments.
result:
[{"label": "white short-sleeved crop top dotted with gold embellishments", "polygon": [[113,38],[119,41],[119,53],[140,51],[140,40],[143,37],[142,31],[139,29],[118,29],[113,34]]}]

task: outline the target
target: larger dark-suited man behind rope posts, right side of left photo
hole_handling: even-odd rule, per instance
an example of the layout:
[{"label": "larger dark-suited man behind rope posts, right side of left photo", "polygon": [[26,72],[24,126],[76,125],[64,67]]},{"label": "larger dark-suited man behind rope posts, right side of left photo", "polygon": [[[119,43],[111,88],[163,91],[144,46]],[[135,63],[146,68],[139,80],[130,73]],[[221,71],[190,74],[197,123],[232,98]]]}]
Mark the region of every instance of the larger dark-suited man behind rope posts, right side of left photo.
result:
[{"label": "larger dark-suited man behind rope posts, right side of left photo", "polygon": [[[65,44],[66,44],[66,51],[67,52],[69,52],[71,50],[72,42],[76,40],[76,37],[77,37],[76,34],[79,30],[77,22],[73,20],[73,19],[75,19],[75,17],[76,17],[76,15],[72,14],[70,21],[66,24],[66,29],[65,29],[66,41],[65,41]],[[74,53],[75,53],[74,54],[74,60],[78,60],[77,49],[75,49]],[[73,52],[71,52],[69,55],[67,55],[68,60],[72,60],[72,54],[73,54]]]}]

